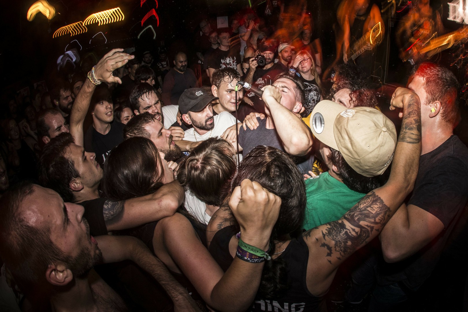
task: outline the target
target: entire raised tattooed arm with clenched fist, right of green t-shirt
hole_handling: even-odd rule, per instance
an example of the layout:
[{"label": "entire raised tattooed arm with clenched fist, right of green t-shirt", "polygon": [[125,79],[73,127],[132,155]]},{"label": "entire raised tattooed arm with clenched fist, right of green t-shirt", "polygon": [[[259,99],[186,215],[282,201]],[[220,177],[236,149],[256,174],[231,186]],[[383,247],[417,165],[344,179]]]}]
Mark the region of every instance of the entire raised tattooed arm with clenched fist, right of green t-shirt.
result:
[{"label": "entire raised tattooed arm with clenched fist, right of green t-shirt", "polygon": [[398,88],[392,107],[403,109],[403,121],[388,182],[364,196],[340,220],[304,233],[309,247],[307,287],[314,295],[328,290],[339,264],[380,233],[413,188],[421,153],[419,98]]}]

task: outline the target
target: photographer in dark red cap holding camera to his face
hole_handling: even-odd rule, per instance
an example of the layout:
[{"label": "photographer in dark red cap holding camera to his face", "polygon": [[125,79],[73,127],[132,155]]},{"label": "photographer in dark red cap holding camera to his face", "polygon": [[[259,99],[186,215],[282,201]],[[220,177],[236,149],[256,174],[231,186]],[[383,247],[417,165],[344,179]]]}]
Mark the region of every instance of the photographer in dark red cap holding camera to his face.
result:
[{"label": "photographer in dark red cap holding camera to his face", "polygon": [[[273,80],[279,73],[284,73],[284,67],[279,63],[274,63],[276,46],[271,42],[265,42],[260,46],[261,54],[250,59],[249,71],[245,76],[245,81],[261,89],[272,85]],[[264,64],[264,65],[262,65]],[[244,101],[252,105],[259,113],[265,113],[263,101],[253,92],[248,92],[244,96]]]}]

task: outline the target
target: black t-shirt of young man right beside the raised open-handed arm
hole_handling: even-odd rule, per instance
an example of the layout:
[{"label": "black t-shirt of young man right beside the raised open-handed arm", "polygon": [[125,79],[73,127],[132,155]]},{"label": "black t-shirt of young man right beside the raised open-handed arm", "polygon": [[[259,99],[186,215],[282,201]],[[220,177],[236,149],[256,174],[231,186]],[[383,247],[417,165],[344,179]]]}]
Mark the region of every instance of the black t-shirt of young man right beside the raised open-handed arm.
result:
[{"label": "black t-shirt of young man right beside the raised open-handed arm", "polygon": [[124,141],[124,124],[114,120],[107,134],[97,132],[93,125],[86,131],[84,145],[87,152],[96,153],[96,161],[103,166],[110,151]]}]

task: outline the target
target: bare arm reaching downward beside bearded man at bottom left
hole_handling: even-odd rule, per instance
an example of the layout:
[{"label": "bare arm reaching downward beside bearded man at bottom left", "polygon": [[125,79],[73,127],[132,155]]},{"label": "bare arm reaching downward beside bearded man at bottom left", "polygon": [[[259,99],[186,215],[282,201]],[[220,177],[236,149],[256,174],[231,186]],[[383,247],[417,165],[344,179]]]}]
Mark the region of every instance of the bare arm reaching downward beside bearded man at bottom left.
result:
[{"label": "bare arm reaching downward beside bearded man at bottom left", "polygon": [[102,235],[95,239],[102,251],[104,263],[132,260],[161,284],[174,302],[176,311],[200,311],[187,290],[174,279],[164,263],[156,258],[141,240],[120,235]]}]

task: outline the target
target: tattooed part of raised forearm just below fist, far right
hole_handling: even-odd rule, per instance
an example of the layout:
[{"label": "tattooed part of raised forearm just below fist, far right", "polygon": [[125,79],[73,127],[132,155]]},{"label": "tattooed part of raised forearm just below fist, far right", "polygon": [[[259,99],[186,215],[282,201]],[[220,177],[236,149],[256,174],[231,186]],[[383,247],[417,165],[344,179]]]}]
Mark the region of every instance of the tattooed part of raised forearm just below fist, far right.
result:
[{"label": "tattooed part of raised forearm just below fist, far right", "polygon": [[421,140],[421,108],[414,96],[409,97],[398,142],[417,144]]}]

